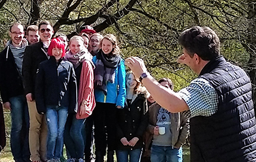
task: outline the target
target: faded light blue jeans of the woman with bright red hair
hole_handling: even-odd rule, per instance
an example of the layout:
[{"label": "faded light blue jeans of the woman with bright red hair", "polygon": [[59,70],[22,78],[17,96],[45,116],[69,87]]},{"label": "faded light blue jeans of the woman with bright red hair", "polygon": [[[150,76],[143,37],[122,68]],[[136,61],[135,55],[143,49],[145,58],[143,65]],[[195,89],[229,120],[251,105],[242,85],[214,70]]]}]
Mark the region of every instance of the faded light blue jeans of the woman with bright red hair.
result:
[{"label": "faded light blue jeans of the woman with bright red hair", "polygon": [[63,153],[63,134],[67,121],[68,107],[47,107],[48,126],[47,159],[60,158]]}]

